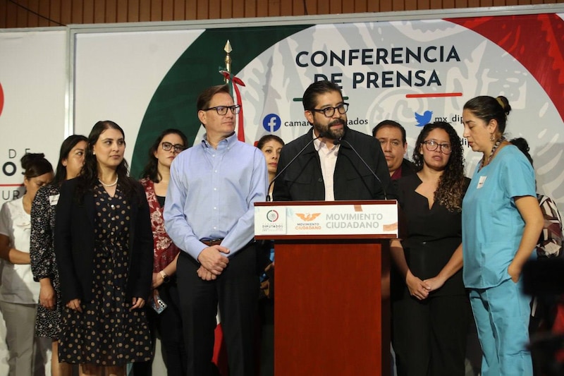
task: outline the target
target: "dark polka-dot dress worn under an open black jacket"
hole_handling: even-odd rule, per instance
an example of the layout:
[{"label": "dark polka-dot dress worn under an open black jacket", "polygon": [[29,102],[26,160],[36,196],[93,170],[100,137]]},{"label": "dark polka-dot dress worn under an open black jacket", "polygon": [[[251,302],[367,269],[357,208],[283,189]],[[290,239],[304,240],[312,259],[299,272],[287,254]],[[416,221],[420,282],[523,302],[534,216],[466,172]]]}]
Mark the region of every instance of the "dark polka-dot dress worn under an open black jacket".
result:
[{"label": "dark polka-dot dress worn under an open black jacket", "polygon": [[151,358],[145,310],[130,311],[125,300],[128,279],[130,204],[116,188],[111,198],[94,187],[96,205],[93,298],[82,313],[65,308],[59,359],[66,363],[124,365]]}]

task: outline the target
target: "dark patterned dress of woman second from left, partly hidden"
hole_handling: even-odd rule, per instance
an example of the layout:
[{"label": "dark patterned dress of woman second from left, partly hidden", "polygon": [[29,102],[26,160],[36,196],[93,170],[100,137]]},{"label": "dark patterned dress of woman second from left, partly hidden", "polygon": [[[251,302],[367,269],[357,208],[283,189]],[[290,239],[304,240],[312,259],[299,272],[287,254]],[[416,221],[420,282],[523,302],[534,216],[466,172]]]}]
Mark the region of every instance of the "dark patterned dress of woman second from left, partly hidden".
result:
[{"label": "dark patterned dress of woman second from left, partly hidden", "polygon": [[49,278],[56,293],[55,309],[37,305],[35,335],[51,339],[59,338],[61,311],[61,285],[56,265],[53,234],[55,208],[59,199],[59,187],[47,185],[37,191],[31,207],[30,257],[33,279]]}]

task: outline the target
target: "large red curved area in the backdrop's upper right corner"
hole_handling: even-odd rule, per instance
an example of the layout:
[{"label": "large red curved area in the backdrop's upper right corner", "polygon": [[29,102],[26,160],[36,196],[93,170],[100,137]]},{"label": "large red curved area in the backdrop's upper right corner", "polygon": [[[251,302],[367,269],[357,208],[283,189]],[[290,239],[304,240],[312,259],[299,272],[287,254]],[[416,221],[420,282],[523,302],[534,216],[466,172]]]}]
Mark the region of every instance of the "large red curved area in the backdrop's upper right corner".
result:
[{"label": "large red curved area in the backdrop's upper right corner", "polygon": [[[553,13],[448,18],[508,51],[527,68],[564,120],[564,20]],[[491,93],[490,95],[496,95]]]}]

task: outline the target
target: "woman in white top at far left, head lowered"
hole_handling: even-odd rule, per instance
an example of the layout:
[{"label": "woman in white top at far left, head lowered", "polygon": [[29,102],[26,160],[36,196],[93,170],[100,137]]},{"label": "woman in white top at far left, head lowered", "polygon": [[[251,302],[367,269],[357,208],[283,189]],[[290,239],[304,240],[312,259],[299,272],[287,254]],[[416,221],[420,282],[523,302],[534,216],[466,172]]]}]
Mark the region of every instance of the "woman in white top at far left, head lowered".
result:
[{"label": "woman in white top at far left, head lowered", "polygon": [[0,212],[0,257],[4,259],[0,308],[6,322],[10,376],[41,372],[44,363],[35,363],[37,353],[49,347],[35,336],[39,284],[30,265],[30,214],[37,190],[53,179],[53,166],[42,153],[25,154],[21,164],[25,194],[5,202]]}]

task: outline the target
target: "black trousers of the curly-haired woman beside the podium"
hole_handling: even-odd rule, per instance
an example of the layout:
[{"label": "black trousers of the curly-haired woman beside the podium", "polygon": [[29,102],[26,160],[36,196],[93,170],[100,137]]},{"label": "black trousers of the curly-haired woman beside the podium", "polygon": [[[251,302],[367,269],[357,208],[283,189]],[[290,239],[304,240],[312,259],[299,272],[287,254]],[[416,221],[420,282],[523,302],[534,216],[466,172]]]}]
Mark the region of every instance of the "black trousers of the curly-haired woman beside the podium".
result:
[{"label": "black trousers of the curly-haired woman beside the podium", "polygon": [[398,376],[464,376],[470,301],[465,295],[405,293],[392,303],[392,344]]}]

